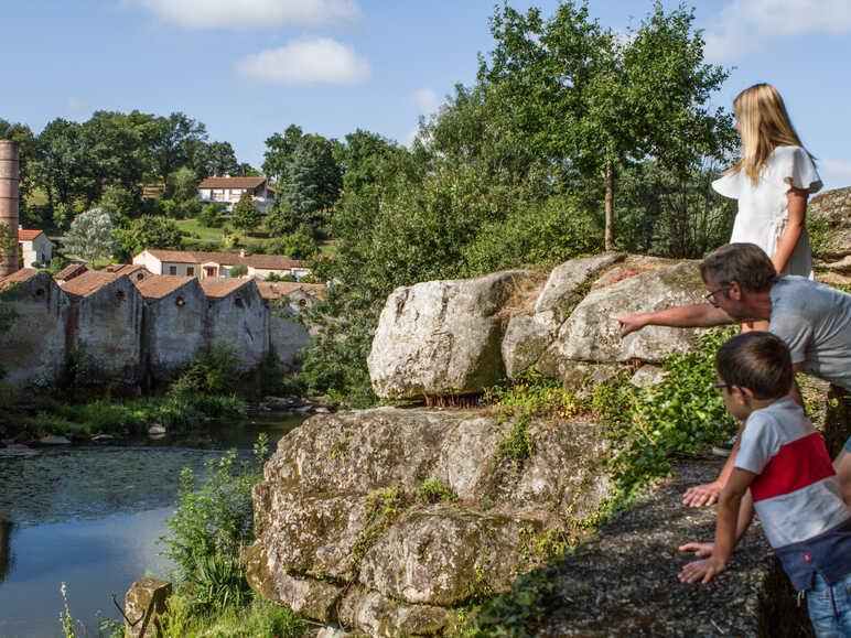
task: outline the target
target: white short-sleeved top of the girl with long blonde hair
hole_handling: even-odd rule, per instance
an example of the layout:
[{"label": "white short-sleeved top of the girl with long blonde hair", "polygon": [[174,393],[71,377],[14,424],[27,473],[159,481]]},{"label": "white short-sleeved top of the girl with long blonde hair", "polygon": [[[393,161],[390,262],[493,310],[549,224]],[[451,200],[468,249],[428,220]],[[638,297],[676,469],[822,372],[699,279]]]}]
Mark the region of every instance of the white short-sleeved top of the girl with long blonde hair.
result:
[{"label": "white short-sleeved top of the girl with long blonde hair", "polygon": [[[724,197],[739,199],[739,214],[730,242],[756,244],[774,257],[777,242],[789,219],[786,193],[791,186],[818,193],[821,179],[807,151],[800,147],[777,147],[768,155],[756,184],[744,171],[728,173],[712,182]],[[805,226],[782,274],[800,274],[812,279],[812,257]]]}]

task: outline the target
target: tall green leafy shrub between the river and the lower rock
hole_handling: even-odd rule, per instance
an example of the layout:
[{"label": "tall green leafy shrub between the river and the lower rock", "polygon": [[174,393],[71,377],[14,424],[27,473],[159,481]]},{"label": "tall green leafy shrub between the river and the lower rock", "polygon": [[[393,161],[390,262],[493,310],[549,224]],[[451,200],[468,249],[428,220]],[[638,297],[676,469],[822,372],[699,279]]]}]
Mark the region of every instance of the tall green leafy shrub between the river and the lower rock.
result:
[{"label": "tall green leafy shrub between the river and the lower rock", "polygon": [[268,451],[260,434],[252,461],[238,464],[230,450],[207,463],[200,485],[192,469],[181,473],[179,506],[166,523],[172,536],[160,542],[176,565],[181,591],[202,609],[241,606],[247,599],[241,559],[254,540],[251,486],[262,478]]}]

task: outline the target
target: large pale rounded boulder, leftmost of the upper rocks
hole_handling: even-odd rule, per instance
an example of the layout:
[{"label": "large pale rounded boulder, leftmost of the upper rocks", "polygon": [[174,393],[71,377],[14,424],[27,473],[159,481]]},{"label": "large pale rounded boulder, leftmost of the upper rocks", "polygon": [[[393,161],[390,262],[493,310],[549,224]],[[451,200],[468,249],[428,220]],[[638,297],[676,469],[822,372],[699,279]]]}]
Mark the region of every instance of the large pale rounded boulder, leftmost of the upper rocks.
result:
[{"label": "large pale rounded boulder, leftmost of the upper rocks", "polygon": [[376,394],[466,394],[503,378],[500,311],[526,275],[511,270],[396,289],[367,358]]}]

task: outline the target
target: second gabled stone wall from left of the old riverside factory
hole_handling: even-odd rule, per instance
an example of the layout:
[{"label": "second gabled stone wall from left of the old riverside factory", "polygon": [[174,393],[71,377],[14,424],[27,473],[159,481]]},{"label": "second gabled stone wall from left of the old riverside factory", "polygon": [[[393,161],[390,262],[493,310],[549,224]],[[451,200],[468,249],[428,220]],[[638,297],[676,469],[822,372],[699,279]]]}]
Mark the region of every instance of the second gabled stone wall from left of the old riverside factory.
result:
[{"label": "second gabled stone wall from left of the old riverside factory", "polygon": [[143,304],[127,277],[79,300],[74,332],[85,381],[139,381]]}]

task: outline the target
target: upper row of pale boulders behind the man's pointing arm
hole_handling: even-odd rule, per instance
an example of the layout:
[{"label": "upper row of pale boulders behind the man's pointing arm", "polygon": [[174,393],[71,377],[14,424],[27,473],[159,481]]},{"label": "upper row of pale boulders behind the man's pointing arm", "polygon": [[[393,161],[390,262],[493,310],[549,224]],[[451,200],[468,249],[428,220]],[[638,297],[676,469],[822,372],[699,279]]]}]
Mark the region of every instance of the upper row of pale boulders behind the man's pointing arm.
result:
[{"label": "upper row of pale boulders behind the man's pointing arm", "polygon": [[610,317],[701,302],[705,291],[693,261],[623,255],[571,260],[550,273],[528,310],[508,309],[507,285],[523,274],[394,291],[369,355],[376,393],[475,393],[532,366],[578,387],[610,378],[625,363],[659,364],[694,346],[697,329],[650,326],[622,339]]}]

